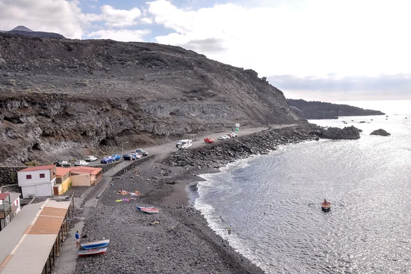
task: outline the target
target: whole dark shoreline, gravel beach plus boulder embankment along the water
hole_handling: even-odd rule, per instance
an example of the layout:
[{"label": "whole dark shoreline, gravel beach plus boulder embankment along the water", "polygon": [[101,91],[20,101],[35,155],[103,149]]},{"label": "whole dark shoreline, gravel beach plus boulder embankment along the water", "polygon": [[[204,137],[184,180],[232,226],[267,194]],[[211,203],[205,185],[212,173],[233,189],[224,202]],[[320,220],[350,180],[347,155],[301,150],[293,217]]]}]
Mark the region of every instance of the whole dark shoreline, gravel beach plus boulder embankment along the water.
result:
[{"label": "whole dark shoreline, gravel beach plus boulder embankment along the water", "polygon": [[[89,209],[83,229],[87,241],[110,238],[108,252],[104,256],[78,258],[75,273],[264,273],[208,226],[201,212],[189,204],[186,188],[204,180],[199,174],[219,172],[220,166],[247,158],[242,155],[244,151],[238,150],[239,143],[246,147],[252,144],[252,149],[245,153],[248,156],[264,154],[269,144],[267,136],[280,137],[277,142],[270,141],[271,149],[275,150],[279,145],[312,140],[312,128],[302,125],[273,129],[231,142],[177,151],[169,158],[143,162],[138,166],[140,175],[128,171],[114,178],[114,186],[103,192],[97,208]],[[221,153],[214,149],[229,158],[221,158]],[[204,155],[204,151],[213,156]],[[201,157],[186,164],[185,160],[192,155]],[[129,202],[116,202],[130,198],[117,194],[121,189],[138,190],[141,196]],[[155,206],[160,212],[143,214],[136,206]]]}]

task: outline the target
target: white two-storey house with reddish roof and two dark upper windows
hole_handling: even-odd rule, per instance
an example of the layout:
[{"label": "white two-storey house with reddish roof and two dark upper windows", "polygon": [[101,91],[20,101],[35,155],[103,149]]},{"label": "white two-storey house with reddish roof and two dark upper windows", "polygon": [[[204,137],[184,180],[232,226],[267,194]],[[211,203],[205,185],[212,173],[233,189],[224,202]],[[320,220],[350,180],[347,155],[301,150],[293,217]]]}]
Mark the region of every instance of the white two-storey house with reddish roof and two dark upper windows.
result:
[{"label": "white two-storey house with reddish roof and two dark upper windows", "polygon": [[21,187],[23,198],[53,195],[56,173],[57,169],[54,164],[33,166],[18,171],[18,186]]}]

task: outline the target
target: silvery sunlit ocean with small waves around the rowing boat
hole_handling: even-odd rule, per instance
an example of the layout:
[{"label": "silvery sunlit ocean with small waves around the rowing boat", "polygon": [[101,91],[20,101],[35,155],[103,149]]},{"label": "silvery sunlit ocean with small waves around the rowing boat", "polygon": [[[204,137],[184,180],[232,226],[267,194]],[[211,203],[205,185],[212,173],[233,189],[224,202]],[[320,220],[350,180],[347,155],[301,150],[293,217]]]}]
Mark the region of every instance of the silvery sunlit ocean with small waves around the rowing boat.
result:
[{"label": "silvery sunlit ocean with small waves around the rowing boat", "polygon": [[[386,115],[310,121],[363,132],[359,140],[289,145],[202,175],[195,208],[266,273],[410,273],[411,101],[334,103]],[[369,135],[380,128],[391,136]],[[329,212],[309,205],[323,199],[334,203]]]}]

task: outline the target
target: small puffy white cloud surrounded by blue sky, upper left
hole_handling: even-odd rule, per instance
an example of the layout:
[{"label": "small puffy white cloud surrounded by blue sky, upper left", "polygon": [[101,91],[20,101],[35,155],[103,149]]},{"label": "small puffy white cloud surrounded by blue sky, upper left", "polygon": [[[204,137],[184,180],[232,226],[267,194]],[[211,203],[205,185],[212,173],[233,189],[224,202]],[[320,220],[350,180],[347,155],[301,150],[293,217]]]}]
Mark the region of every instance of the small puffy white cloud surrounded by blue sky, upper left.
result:
[{"label": "small puffy white cloud surrounded by blue sky, upper left", "polygon": [[132,10],[116,10],[111,5],[101,7],[99,21],[105,21],[108,27],[126,27],[138,24],[141,12],[138,8]]}]

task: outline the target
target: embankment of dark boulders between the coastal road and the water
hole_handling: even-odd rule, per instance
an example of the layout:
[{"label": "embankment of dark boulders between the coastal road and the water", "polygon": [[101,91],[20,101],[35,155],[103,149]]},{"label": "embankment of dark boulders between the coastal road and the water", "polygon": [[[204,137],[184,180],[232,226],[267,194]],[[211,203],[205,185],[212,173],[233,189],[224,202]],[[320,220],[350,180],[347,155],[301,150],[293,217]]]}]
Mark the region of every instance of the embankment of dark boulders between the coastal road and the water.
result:
[{"label": "embankment of dark boulders between the coastal road and the water", "polygon": [[314,140],[316,126],[306,124],[284,129],[267,129],[258,134],[216,142],[198,149],[179,150],[166,161],[170,166],[197,166],[219,169],[220,166],[251,155],[267,154],[280,145]]}]

